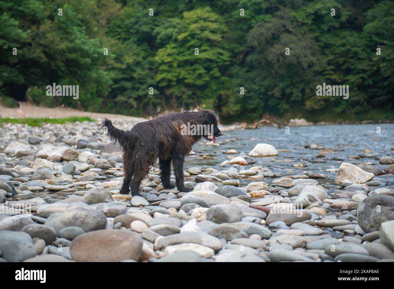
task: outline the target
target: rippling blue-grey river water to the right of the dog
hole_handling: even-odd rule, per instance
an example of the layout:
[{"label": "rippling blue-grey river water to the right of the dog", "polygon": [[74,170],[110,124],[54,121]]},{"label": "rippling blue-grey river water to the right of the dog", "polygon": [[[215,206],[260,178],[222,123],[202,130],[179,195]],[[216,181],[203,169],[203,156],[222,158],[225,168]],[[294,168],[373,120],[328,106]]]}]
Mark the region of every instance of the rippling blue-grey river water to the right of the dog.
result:
[{"label": "rippling blue-grey river water to the right of the dog", "polygon": [[[279,152],[278,156],[255,158],[257,163],[245,166],[245,169],[252,166],[262,166],[269,168],[274,173],[280,172],[282,176],[296,175],[303,171],[319,172],[327,176],[326,179],[317,179],[319,183],[324,184],[333,182],[336,175],[336,173],[324,170],[333,167],[338,169],[342,162],[355,165],[371,162],[384,171],[388,165],[379,164],[379,158],[394,155],[394,124],[314,125],[288,129],[285,127],[281,129],[263,127],[225,132],[223,136],[216,139],[216,142],[220,145],[206,145],[203,142],[196,144],[193,151],[198,156],[209,155],[214,159],[188,158],[185,162],[185,170],[190,166],[225,169],[219,164],[227,160],[229,155],[225,152],[229,149],[235,149],[238,153],[243,152],[247,155],[256,144],[266,143],[273,145],[278,151],[290,150],[290,152]],[[319,148],[306,147],[311,144],[317,144]],[[325,153],[325,157],[316,157],[323,148],[329,149],[333,153]],[[364,153],[365,149],[370,149],[372,152]],[[315,160],[324,162],[314,163]],[[293,167],[293,164],[296,163],[301,163],[304,167]],[[271,180],[264,179],[264,182],[270,183]],[[374,180],[386,182],[393,181],[394,178],[380,175],[374,177]],[[240,181],[247,183],[244,180]],[[394,187],[394,185],[389,184],[387,187]]]}]

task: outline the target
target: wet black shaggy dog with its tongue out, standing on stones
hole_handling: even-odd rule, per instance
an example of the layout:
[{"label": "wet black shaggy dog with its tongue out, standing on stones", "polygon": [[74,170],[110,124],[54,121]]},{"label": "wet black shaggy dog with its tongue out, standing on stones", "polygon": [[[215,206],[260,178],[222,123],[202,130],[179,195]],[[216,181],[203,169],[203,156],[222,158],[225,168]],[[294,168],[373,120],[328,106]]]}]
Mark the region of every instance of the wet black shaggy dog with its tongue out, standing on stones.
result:
[{"label": "wet black shaggy dog with its tongue out, standing on stones", "polygon": [[[102,121],[110,140],[117,141],[123,149],[125,179],[122,194],[139,195],[139,185],[149,168],[159,158],[160,179],[165,189],[170,185],[171,161],[179,191],[188,192],[183,181],[183,162],[191,147],[202,137],[216,141],[221,136],[217,118],[211,110],[172,113],[154,120],[139,122],[130,131],[117,129],[108,119]],[[185,129],[186,127],[186,129]],[[194,129],[193,128],[196,128]],[[190,129],[191,128],[191,129]],[[212,131],[213,128],[213,131]],[[186,133],[185,133],[186,132]]]}]

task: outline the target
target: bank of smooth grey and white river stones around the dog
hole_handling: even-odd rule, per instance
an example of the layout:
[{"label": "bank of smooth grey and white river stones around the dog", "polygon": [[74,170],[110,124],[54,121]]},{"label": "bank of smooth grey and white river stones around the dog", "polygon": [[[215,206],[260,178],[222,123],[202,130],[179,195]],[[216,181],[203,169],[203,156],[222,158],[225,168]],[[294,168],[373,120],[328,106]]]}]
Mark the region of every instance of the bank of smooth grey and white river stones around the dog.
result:
[{"label": "bank of smooth grey and white river stones around the dog", "polygon": [[223,136],[189,157],[190,192],[164,190],[156,166],[132,197],[119,194],[121,150],[99,123],[0,134],[0,261],[394,261],[387,153],[331,157],[308,144],[315,156],[296,161],[269,144],[239,152],[242,138]]}]

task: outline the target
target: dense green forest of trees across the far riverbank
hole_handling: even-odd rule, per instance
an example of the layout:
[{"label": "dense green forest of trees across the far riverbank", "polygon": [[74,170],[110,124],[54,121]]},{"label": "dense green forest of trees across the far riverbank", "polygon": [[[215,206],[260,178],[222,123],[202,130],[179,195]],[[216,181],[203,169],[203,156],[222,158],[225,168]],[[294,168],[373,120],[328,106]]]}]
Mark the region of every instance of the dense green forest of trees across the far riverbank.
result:
[{"label": "dense green forest of trees across the far riverbank", "polygon": [[[394,1],[3,0],[0,27],[3,107],[394,120]],[[317,96],[323,82],[349,99]],[[52,83],[79,98],[47,96]]]}]

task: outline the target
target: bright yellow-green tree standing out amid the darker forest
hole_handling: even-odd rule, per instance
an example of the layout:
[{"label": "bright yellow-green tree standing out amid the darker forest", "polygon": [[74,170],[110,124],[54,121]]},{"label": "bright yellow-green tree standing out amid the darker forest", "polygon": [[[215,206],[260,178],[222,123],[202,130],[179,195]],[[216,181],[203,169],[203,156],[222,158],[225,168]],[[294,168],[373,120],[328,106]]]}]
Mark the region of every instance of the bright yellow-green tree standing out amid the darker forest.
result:
[{"label": "bright yellow-green tree standing out amid the darker forest", "polygon": [[[185,108],[206,104],[216,106],[221,94],[218,87],[225,69],[230,64],[223,33],[226,26],[223,19],[209,7],[184,12],[182,28],[171,20],[171,31],[178,32],[175,39],[158,50],[155,60],[158,63],[156,81],[165,96],[177,99],[175,106]],[[164,30],[156,30],[157,38],[164,38]],[[198,55],[197,50],[198,48]]]}]

